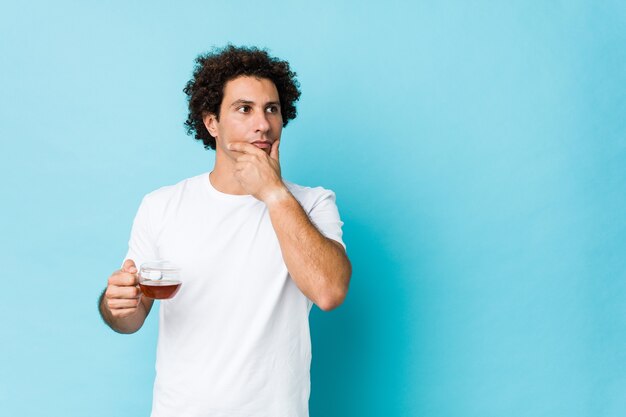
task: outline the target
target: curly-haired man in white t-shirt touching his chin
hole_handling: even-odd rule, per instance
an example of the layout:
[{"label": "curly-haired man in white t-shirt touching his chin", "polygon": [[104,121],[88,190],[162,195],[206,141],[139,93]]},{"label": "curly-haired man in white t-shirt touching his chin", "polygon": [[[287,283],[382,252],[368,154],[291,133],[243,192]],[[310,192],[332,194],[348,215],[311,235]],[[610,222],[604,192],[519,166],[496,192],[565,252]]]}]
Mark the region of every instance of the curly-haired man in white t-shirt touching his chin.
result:
[{"label": "curly-haired man in white t-shirt touching his chin", "polygon": [[138,267],[167,259],[183,285],[160,305],[152,417],[308,416],[309,311],[339,306],[351,275],[335,196],[281,177],[300,96],[287,62],[229,45],[196,64],[186,125],[215,166],[144,197],[100,312],[139,330]]}]

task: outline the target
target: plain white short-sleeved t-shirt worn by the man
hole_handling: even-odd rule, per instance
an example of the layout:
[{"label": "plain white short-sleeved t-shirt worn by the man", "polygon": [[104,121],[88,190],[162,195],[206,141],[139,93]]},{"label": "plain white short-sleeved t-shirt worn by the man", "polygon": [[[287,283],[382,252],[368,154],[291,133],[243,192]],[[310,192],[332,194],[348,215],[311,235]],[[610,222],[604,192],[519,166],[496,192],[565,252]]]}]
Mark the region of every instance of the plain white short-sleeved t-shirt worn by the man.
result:
[{"label": "plain white short-sleeved t-shirt worn by the man", "polygon": [[[344,245],[334,193],[285,184]],[[182,268],[180,291],[160,303],[152,417],[308,416],[312,302],[263,202],[217,191],[208,173],[160,188],[141,202],[126,259]]]}]

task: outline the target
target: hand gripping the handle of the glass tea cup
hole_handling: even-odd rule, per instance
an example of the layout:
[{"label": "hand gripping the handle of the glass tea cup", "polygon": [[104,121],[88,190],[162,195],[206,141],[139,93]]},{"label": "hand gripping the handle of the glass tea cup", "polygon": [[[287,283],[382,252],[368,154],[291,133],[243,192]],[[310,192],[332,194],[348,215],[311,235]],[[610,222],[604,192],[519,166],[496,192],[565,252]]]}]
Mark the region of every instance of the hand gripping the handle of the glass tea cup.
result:
[{"label": "hand gripping the handle of the glass tea cup", "polygon": [[122,269],[111,274],[103,303],[112,317],[124,318],[137,313],[141,304],[141,289],[138,284],[137,266],[132,259],[124,261]]}]

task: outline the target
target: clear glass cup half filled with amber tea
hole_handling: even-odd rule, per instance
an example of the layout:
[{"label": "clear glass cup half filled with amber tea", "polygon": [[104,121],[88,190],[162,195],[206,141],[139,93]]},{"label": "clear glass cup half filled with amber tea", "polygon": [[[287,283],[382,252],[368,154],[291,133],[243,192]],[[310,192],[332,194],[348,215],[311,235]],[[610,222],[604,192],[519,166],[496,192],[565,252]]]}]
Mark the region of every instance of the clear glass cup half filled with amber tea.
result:
[{"label": "clear glass cup half filled with amber tea", "polygon": [[170,261],[151,261],[139,268],[139,287],[143,295],[157,300],[173,298],[182,281],[180,268]]}]

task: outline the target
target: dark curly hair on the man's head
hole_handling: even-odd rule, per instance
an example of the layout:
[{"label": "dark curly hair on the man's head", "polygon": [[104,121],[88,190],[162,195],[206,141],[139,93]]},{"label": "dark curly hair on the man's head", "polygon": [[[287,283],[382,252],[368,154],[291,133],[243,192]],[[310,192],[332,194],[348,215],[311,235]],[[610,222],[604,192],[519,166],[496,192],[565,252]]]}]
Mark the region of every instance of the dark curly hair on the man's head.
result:
[{"label": "dark curly hair on the man's head", "polygon": [[278,90],[283,127],[296,118],[295,102],[300,98],[300,84],[287,61],[271,57],[265,49],[227,45],[199,55],[193,77],[185,88],[189,114],[185,126],[187,134],[194,134],[205,149],[215,149],[215,138],[204,126],[202,118],[213,113],[219,120],[224,86],[234,78],[252,76],[271,80]]}]

